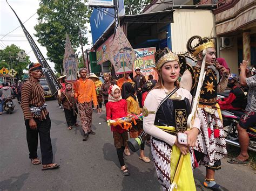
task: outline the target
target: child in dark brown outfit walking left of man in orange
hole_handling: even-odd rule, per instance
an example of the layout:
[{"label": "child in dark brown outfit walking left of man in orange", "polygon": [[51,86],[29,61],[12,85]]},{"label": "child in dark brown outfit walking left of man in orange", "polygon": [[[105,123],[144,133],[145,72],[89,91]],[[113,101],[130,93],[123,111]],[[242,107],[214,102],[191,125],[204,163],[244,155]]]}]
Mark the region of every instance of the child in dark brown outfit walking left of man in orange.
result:
[{"label": "child in dark brown outfit walking left of man in orange", "polygon": [[[76,108],[76,100],[74,98],[75,93],[72,93],[72,84],[69,82],[66,82],[65,84],[65,91],[62,91],[62,94],[60,95],[60,100],[63,103],[66,123],[68,124],[68,130],[72,129],[72,126],[79,126],[77,124],[77,108]],[[69,101],[68,101],[68,99]],[[75,109],[75,111],[74,111]]]}]

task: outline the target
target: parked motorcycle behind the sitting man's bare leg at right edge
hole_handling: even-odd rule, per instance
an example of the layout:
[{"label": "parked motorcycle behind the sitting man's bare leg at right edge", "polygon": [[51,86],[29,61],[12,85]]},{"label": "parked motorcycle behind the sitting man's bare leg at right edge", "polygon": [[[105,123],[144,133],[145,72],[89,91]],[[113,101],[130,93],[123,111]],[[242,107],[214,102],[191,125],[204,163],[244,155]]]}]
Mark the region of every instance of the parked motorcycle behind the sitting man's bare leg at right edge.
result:
[{"label": "parked motorcycle behind the sitting man's bare leg at right edge", "polygon": [[[228,93],[218,95],[218,98],[227,97]],[[244,114],[242,110],[221,110],[223,117],[223,126],[226,143],[229,145],[240,147],[238,140],[237,124],[240,117]],[[247,129],[250,143],[248,150],[256,151],[256,126],[251,126]]]}]

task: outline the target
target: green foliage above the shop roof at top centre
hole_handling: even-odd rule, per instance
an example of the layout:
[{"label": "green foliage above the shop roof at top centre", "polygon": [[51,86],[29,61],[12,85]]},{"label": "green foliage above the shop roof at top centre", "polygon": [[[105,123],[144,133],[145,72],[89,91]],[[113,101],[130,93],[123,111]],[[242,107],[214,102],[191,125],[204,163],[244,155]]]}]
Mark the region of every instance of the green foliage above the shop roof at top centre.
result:
[{"label": "green foliage above the shop roof at top centre", "polygon": [[150,4],[152,0],[124,0],[125,15],[138,15],[141,14],[145,6]]}]

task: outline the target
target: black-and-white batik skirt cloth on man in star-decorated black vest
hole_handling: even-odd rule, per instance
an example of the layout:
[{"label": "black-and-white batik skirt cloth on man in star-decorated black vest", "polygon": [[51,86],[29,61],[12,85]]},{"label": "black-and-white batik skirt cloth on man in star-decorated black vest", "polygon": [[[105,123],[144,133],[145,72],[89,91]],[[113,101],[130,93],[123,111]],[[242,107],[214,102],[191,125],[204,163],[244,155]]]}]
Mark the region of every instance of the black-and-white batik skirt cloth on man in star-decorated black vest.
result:
[{"label": "black-and-white batik skirt cloth on man in star-decorated black vest", "polygon": [[[204,159],[200,161],[200,165],[213,166],[215,161],[224,158],[227,154],[223,122],[217,110],[214,111],[213,115],[206,112],[204,108],[198,108],[197,112],[201,122],[201,132],[197,137],[198,146],[194,149],[205,154]],[[213,127],[216,125],[218,125],[220,135],[214,138]],[[210,137],[208,135],[209,126],[211,128]]]}]

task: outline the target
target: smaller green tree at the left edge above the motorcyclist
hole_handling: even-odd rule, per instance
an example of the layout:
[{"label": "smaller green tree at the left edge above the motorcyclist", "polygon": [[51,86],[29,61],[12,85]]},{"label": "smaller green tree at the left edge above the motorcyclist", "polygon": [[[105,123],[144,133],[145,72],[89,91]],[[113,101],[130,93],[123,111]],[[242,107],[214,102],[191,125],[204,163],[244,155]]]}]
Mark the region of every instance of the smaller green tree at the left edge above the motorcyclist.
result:
[{"label": "smaller green tree at the left edge above the motorcyclist", "polygon": [[[16,70],[17,75],[15,77],[17,77],[18,79],[22,79],[23,70],[28,69],[28,66],[30,64],[28,55],[24,58],[25,60],[24,62],[19,62],[19,58],[17,54],[20,51],[24,51],[24,50],[14,44],[12,44],[11,46],[6,46],[5,49],[0,50],[0,69],[5,67],[10,70],[9,68],[9,65],[10,65],[10,67]],[[11,56],[11,59],[10,59],[10,56]]]}]

